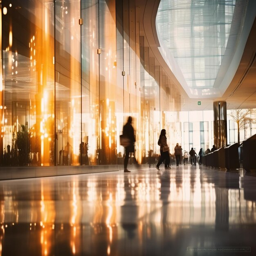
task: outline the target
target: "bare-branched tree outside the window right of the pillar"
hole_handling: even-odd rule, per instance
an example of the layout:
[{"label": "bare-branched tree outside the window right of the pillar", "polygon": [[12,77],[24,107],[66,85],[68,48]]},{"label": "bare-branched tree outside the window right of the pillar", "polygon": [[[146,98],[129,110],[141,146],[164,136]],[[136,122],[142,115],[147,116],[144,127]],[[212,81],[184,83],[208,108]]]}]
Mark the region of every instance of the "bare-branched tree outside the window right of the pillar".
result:
[{"label": "bare-branched tree outside the window right of the pillar", "polygon": [[237,124],[238,144],[240,144],[240,129],[245,129],[249,124],[255,124],[255,119],[252,118],[252,114],[255,114],[255,110],[251,108],[231,110],[229,114]]}]

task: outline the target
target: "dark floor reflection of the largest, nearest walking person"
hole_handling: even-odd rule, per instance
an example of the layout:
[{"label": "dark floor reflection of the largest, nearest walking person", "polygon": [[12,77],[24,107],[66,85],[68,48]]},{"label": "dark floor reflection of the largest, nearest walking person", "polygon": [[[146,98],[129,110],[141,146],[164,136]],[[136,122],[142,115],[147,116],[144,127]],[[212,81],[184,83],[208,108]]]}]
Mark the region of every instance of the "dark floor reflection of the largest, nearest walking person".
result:
[{"label": "dark floor reflection of the largest, nearest walking person", "polygon": [[124,205],[121,206],[121,225],[128,235],[128,239],[135,237],[137,229],[138,207],[132,197],[132,186],[128,177],[124,177]]}]

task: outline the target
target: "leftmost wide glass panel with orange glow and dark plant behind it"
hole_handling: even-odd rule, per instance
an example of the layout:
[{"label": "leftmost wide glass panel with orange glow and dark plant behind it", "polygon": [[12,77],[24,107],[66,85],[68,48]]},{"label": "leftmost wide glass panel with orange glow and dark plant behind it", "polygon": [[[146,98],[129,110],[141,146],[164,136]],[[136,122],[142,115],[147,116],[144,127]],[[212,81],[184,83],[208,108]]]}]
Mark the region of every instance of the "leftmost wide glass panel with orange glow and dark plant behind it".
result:
[{"label": "leftmost wide glass panel with orange glow and dark plant behind it", "polygon": [[1,155],[7,166],[54,165],[54,4],[19,4],[2,15]]}]

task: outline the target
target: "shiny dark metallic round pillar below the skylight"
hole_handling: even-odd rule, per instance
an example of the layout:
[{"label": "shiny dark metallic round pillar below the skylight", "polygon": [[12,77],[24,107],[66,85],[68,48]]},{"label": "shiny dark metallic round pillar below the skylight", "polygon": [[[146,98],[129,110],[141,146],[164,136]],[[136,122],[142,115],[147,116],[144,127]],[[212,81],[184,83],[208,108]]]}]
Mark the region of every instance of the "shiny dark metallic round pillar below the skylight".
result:
[{"label": "shiny dark metallic round pillar below the skylight", "polygon": [[227,102],[213,102],[213,135],[217,148],[227,146]]}]

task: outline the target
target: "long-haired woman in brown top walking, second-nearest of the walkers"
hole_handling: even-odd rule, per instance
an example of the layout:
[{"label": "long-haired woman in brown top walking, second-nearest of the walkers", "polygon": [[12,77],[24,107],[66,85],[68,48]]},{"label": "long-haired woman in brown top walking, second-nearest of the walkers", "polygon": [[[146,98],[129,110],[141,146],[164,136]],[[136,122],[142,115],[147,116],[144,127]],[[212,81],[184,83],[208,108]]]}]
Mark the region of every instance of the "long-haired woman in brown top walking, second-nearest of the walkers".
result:
[{"label": "long-haired woman in brown top walking, second-nearest of the walkers", "polygon": [[169,153],[169,146],[167,144],[167,138],[166,138],[166,130],[162,129],[159,139],[158,139],[158,145],[160,146],[160,159],[155,166],[157,170],[159,169],[160,164],[165,160],[164,167],[165,169],[171,169],[170,167],[170,153]]}]

